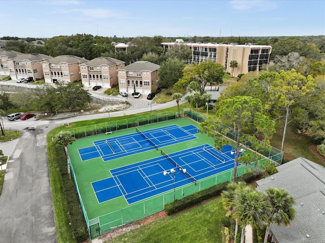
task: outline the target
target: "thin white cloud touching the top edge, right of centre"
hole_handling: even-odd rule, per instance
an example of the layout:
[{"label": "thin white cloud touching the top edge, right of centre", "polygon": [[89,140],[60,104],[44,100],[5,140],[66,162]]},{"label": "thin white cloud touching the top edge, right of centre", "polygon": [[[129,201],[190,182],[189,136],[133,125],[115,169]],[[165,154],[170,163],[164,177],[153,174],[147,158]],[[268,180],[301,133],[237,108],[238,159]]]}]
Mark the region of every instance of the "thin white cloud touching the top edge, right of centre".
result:
[{"label": "thin white cloud touching the top edge, right of centre", "polygon": [[239,11],[248,11],[248,10],[253,10],[253,11],[269,11],[272,9],[275,9],[276,3],[272,1],[261,1],[261,0],[235,0],[230,2],[231,6],[235,10]]}]

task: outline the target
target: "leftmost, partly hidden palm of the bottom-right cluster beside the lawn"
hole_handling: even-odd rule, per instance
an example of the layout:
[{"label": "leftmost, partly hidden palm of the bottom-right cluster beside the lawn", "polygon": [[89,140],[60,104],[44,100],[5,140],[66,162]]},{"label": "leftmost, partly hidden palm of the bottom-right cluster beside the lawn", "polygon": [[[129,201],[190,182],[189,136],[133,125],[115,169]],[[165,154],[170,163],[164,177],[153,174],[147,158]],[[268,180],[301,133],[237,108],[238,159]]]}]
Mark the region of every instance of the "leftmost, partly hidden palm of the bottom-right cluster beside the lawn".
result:
[{"label": "leftmost, partly hidden palm of the bottom-right cluster beside the lawn", "polygon": [[[246,186],[245,182],[230,182],[227,185],[227,190],[222,191],[221,193],[221,201],[222,205],[225,209],[232,211],[233,213],[236,212],[236,190],[243,189]],[[238,220],[236,219],[236,227],[235,227],[235,241],[238,233]]]}]

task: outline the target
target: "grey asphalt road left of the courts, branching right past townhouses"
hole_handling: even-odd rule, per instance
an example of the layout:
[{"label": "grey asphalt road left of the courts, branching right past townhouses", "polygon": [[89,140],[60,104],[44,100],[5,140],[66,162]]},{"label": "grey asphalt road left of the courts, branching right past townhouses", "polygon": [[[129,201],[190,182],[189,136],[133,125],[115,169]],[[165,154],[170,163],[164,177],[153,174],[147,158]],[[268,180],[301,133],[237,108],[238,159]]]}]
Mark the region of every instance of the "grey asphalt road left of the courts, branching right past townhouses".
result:
[{"label": "grey asphalt road left of the courts, branching right past townhouses", "polygon": [[[128,98],[132,106],[110,112],[111,117],[139,114],[176,105],[175,101],[150,105],[145,97]],[[182,100],[180,103],[185,103]],[[50,187],[46,135],[62,124],[79,120],[107,117],[107,114],[82,115],[62,119],[9,121],[4,117],[6,130],[19,130],[21,138],[1,143],[0,149],[9,155],[3,191],[0,196],[0,242],[45,243],[57,242]],[[36,126],[35,131],[28,127]]]}]

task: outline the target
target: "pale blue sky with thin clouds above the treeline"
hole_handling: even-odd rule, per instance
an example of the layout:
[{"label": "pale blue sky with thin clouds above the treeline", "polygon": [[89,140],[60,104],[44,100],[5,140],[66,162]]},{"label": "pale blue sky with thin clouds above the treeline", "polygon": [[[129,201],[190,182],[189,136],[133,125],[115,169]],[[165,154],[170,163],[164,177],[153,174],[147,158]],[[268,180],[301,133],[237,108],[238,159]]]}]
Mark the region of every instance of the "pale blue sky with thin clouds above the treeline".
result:
[{"label": "pale blue sky with thin clouds above the treeline", "polygon": [[325,0],[5,0],[0,6],[0,37],[325,35]]}]

